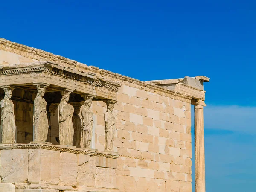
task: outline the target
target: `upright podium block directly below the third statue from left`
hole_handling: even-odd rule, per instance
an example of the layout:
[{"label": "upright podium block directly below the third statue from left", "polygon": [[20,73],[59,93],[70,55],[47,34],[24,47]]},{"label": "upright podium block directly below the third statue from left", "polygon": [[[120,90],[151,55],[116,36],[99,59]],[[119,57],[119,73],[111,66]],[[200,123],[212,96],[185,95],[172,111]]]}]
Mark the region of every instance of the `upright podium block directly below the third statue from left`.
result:
[{"label": "upright podium block directly below the third statue from left", "polygon": [[60,184],[76,186],[78,172],[77,155],[74,153],[61,152],[59,166]]}]

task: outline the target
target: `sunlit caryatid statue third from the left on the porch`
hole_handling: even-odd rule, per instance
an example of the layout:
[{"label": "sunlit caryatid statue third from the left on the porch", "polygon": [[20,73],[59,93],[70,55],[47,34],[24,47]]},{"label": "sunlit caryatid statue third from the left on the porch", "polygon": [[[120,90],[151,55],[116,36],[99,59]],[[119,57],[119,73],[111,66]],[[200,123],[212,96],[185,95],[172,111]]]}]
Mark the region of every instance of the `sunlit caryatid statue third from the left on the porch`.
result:
[{"label": "sunlit caryatid statue third from the left on the porch", "polygon": [[71,91],[62,90],[61,102],[58,106],[60,145],[73,146],[74,128],[72,122],[73,106],[67,104]]}]

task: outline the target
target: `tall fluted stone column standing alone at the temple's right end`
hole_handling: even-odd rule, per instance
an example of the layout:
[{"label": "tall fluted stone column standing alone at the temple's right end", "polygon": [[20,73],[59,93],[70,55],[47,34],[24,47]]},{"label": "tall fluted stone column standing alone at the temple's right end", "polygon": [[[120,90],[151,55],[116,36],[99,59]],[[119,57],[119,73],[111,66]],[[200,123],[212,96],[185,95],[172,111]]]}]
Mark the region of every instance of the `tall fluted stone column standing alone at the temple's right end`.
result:
[{"label": "tall fluted stone column standing alone at the temple's right end", "polygon": [[205,192],[204,101],[195,100],[195,192]]}]

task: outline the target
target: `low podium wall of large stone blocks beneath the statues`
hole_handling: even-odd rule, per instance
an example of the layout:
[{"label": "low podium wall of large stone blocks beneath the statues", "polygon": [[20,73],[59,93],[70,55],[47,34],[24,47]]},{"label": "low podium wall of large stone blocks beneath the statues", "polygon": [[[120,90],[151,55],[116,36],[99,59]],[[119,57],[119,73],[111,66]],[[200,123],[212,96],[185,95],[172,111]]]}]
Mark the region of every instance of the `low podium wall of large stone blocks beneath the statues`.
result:
[{"label": "low podium wall of large stone blocks beneath the statues", "polygon": [[[96,150],[58,145],[2,144],[0,191],[8,188],[10,192],[116,192],[118,156],[106,156],[109,154]],[[12,185],[15,191],[11,190]]]}]

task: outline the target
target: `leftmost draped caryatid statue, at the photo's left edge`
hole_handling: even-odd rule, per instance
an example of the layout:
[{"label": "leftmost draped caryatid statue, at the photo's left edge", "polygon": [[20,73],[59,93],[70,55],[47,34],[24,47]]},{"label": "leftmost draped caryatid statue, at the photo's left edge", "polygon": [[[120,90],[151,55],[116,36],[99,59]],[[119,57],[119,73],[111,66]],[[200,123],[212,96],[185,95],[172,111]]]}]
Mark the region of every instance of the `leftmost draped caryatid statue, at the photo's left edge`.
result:
[{"label": "leftmost draped caryatid statue, at the photo's left edge", "polygon": [[1,124],[2,124],[2,143],[16,143],[16,125],[15,125],[15,116],[14,116],[14,104],[11,100],[13,88],[10,86],[3,87],[5,96],[1,100]]}]

